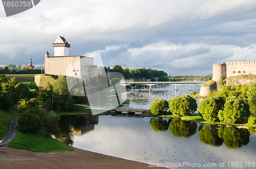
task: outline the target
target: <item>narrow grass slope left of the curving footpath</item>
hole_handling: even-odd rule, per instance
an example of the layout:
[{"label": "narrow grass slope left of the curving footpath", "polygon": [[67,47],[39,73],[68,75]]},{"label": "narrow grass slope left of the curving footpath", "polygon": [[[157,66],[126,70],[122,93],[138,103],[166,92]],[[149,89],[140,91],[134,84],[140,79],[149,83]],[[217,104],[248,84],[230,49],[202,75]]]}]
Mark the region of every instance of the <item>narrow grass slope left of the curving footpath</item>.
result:
[{"label": "narrow grass slope left of the curving footpath", "polygon": [[16,114],[17,111],[15,106],[9,111],[0,110],[0,140],[6,136],[10,123]]}]

